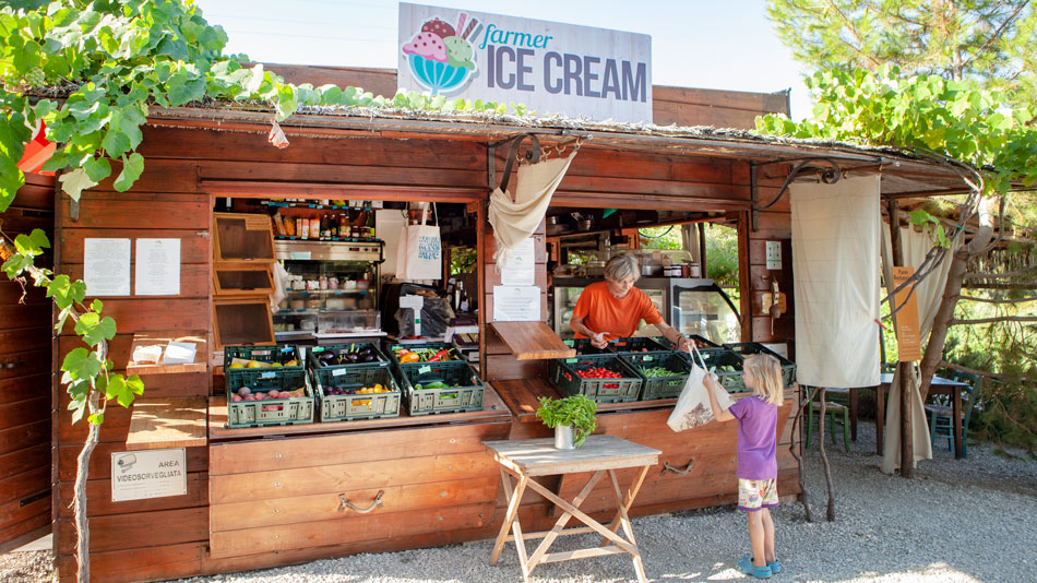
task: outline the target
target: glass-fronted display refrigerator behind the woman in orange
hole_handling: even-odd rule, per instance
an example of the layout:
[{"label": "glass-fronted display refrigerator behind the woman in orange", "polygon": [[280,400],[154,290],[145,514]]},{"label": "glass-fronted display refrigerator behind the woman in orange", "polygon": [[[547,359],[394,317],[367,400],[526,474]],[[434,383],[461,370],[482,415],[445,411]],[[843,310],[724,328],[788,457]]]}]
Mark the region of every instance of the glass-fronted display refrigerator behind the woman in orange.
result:
[{"label": "glass-fronted display refrigerator behind the woman in orange", "polygon": [[[556,277],[551,322],[562,338],[573,337],[569,328],[572,311],[583,288],[601,282],[599,277]],[[741,341],[741,319],[734,302],[713,279],[689,277],[641,277],[634,284],[659,310],[664,320],[681,334],[698,334],[717,344]],[[635,336],[658,336],[659,331],[641,321]]]}]

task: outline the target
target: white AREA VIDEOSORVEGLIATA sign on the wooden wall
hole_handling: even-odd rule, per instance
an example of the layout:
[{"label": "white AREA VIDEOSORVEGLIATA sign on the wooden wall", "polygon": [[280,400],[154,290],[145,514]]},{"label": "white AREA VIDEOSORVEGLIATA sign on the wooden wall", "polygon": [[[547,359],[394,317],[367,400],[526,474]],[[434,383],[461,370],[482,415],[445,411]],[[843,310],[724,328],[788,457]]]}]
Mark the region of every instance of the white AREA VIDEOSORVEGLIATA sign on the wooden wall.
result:
[{"label": "white AREA VIDEOSORVEGLIATA sign on the wooden wall", "polygon": [[183,448],[111,454],[111,501],[188,493]]}]

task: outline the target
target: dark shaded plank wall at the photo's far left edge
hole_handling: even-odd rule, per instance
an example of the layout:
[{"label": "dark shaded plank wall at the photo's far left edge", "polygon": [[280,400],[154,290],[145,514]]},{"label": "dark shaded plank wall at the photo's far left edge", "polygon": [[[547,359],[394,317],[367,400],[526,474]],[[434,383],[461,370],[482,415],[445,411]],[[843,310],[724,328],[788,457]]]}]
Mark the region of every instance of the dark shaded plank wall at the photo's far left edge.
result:
[{"label": "dark shaded plank wall at the photo's far left edge", "polygon": [[[11,240],[43,228],[53,241],[53,177],[26,175],[2,214]],[[53,255],[36,259],[50,267]],[[44,290],[0,275],[0,547],[50,524],[50,322]]]}]

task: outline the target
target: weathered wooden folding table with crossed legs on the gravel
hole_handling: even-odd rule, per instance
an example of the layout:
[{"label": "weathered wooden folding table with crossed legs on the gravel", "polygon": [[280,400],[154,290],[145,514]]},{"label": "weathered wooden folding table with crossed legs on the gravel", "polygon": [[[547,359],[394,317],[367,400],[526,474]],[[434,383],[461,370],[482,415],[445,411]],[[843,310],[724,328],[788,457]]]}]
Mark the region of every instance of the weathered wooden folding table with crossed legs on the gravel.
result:
[{"label": "weathered wooden folding table with crossed legs on the gravel", "polygon": [[[501,549],[504,547],[504,543],[509,540],[515,542],[518,551],[518,564],[522,567],[522,578],[527,583],[533,570],[541,562],[568,561],[629,552],[633,556],[637,580],[642,583],[646,581],[644,566],[641,562],[641,551],[637,550],[633,526],[630,524],[627,512],[633,504],[648,468],[658,463],[661,453],[659,450],[631,443],[616,436],[591,436],[582,448],[575,450],[556,450],[553,439],[487,441],[484,444],[487,452],[501,466],[501,485],[504,487],[504,495],[508,497],[508,512],[504,515],[504,523],[501,525],[500,533],[497,535],[493,551],[490,554],[490,564],[497,564]],[[623,496],[619,479],[616,477],[616,469],[624,467],[642,468],[625,496]],[[593,472],[594,474],[572,501],[563,500],[532,479],[535,476],[582,472]],[[591,495],[594,486],[606,473],[612,483],[611,490],[617,502],[616,515],[608,526],[595,521],[580,510],[580,504]],[[512,479],[514,479],[514,484],[512,484]],[[522,533],[522,527],[518,524],[518,504],[527,488],[562,510],[562,515],[550,531]],[[570,517],[577,519],[586,526],[565,528]],[[623,528],[627,538],[617,533],[620,527]],[[512,531],[512,535],[508,534],[509,530]],[[548,549],[559,536],[586,533],[600,534],[604,537],[601,545],[568,552],[548,552]],[[537,538],[544,540],[533,551],[533,555],[527,557],[525,542]]]}]

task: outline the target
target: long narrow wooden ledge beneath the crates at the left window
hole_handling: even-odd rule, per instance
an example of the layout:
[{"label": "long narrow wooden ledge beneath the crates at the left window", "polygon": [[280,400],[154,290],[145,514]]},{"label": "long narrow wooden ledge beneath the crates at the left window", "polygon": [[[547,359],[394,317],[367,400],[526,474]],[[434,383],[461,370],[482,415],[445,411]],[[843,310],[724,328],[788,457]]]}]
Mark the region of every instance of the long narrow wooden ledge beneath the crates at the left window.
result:
[{"label": "long narrow wooden ledge beneath the crates at the left window", "polygon": [[311,433],[336,433],[342,431],[367,431],[371,429],[392,429],[442,424],[486,423],[510,420],[511,413],[508,405],[501,401],[497,392],[486,384],[482,396],[482,411],[470,413],[446,413],[442,415],[407,415],[406,406],[401,403],[400,417],[388,419],[363,419],[356,421],[312,423],[306,425],[281,425],[273,427],[252,427],[245,429],[227,428],[227,397],[212,396],[208,398],[208,437],[212,441],[228,439],[258,438],[271,436],[296,436]]}]

